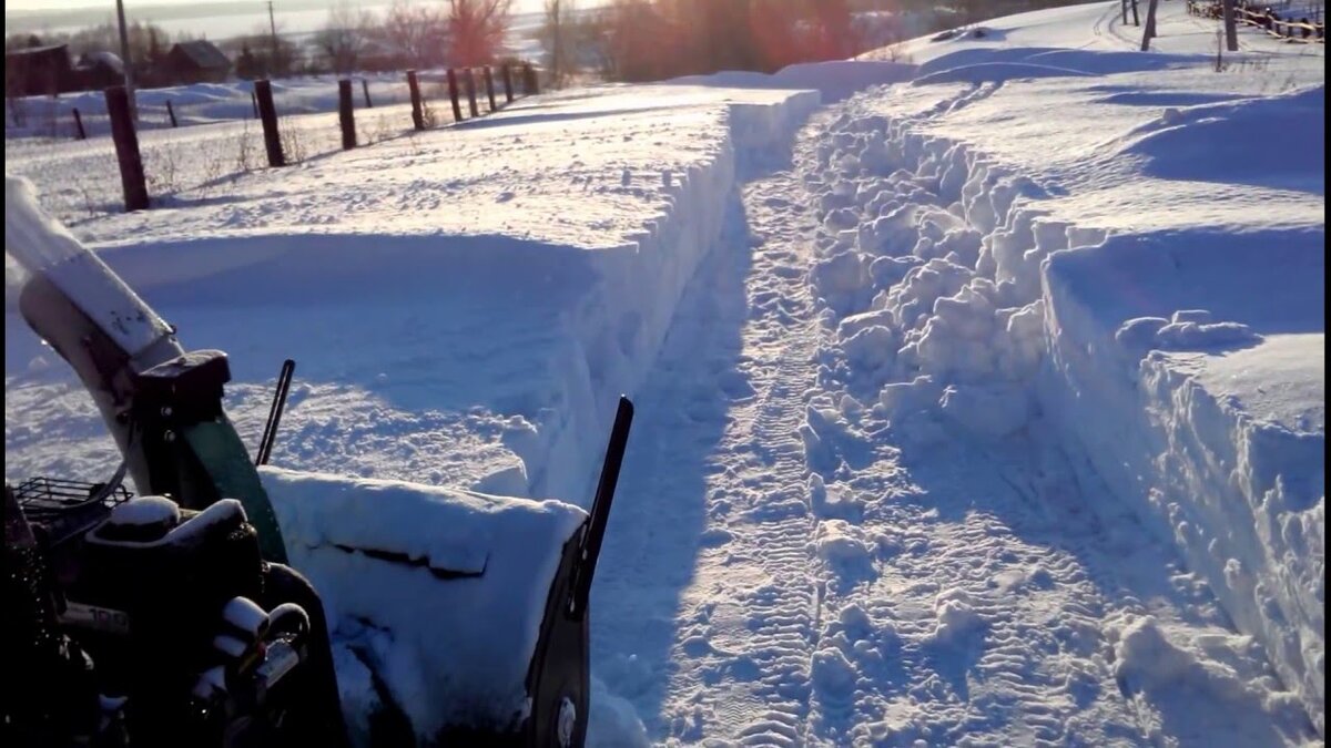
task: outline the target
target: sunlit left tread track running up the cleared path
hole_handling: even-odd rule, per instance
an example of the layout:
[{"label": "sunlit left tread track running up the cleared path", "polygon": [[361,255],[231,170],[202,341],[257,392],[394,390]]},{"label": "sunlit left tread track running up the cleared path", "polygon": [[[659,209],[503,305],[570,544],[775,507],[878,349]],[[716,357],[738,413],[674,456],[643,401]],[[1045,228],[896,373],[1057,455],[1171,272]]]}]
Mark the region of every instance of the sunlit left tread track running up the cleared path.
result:
[{"label": "sunlit left tread track running up the cleared path", "polygon": [[[707,630],[715,652],[752,663],[756,677],[724,675],[703,699],[715,703],[709,737],[741,745],[803,745],[811,693],[809,657],[819,630],[819,584],[809,554],[813,518],[804,487],[807,466],[800,425],[805,390],[813,383],[817,350],[808,294],[811,225],[789,196],[791,174],[757,180],[744,188],[749,230],[763,245],[749,276],[752,315],[745,350],[753,350],[753,382],[761,393],[732,411],[743,455],[737,495],[725,531],[721,576],[760,580]],[[720,671],[717,671],[720,673]],[[732,680],[727,683],[727,680]]]}]

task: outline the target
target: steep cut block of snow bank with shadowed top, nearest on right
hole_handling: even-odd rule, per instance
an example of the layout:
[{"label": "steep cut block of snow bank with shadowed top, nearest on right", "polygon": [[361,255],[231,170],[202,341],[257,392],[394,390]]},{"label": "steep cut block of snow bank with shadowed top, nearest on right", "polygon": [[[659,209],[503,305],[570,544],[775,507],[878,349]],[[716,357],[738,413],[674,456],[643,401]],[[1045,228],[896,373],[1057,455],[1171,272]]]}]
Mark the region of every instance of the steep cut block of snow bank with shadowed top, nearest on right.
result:
[{"label": "steep cut block of snow bank with shadowed top, nearest on right", "polygon": [[[1045,410],[1086,446],[1114,492],[1179,547],[1240,631],[1259,636],[1318,729],[1323,241],[1311,232],[1197,232],[1055,256],[1046,276],[1051,369],[1040,389]],[[1155,326],[1151,313],[1195,306],[1210,307],[1206,317],[1242,319],[1230,325],[1243,330],[1175,314],[1145,345],[1123,334]],[[1235,365],[1248,381],[1215,371]],[[1271,402],[1267,387],[1287,397]]]}]

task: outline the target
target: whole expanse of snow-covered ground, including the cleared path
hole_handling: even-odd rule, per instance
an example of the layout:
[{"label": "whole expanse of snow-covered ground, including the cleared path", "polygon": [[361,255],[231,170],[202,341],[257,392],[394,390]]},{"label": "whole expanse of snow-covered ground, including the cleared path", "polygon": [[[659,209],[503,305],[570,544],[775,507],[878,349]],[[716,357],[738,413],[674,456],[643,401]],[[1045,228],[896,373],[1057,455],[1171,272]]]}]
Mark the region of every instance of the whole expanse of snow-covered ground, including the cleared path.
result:
[{"label": "whole expanse of snow-covered ground, including the cleared path", "polygon": [[[1118,13],[181,156],[136,214],[93,144],[7,173],[230,354],[242,435],[298,362],[280,467],[586,507],[634,397],[592,744],[1322,744],[1323,47]],[[109,474],[12,299],[7,479]]]}]

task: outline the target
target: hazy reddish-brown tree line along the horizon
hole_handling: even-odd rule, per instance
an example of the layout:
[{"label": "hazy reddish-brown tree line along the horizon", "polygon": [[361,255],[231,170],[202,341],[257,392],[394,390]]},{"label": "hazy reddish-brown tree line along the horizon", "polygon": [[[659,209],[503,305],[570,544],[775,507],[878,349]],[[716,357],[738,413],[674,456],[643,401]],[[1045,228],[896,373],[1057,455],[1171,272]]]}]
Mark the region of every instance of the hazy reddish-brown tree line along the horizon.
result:
[{"label": "hazy reddish-brown tree line along the horizon", "polygon": [[[514,0],[394,0],[371,13],[343,0],[323,25],[297,41],[269,23],[218,41],[244,79],[353,71],[471,67],[499,61],[506,51]],[[977,23],[996,15],[1065,4],[1066,0],[611,0],[580,9],[578,0],[546,0],[538,32],[550,83],[575,76],[651,81],[716,71],[775,72],[793,63],[845,59],[881,44],[864,33],[861,13],[928,16],[933,25]],[[129,27],[136,71],[156,68],[174,41],[160,27]],[[15,35],[5,49],[68,44],[77,57],[118,56],[112,24],[73,33]]]}]

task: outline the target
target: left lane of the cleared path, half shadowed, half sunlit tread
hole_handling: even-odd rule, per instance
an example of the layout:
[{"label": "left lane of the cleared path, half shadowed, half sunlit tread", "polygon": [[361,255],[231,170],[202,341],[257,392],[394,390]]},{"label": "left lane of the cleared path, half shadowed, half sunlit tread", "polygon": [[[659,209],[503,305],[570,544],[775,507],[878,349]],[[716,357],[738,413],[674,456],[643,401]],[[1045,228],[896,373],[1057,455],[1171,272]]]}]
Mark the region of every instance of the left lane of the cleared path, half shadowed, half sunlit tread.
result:
[{"label": "left lane of the cleared path, half shadowed, half sunlit tread", "polygon": [[598,643],[635,643],[600,652],[599,675],[684,741],[804,744],[820,584],[799,427],[817,338],[815,225],[792,194],[789,173],[747,185],[747,226],[695,276],[639,398],[596,584]]}]

